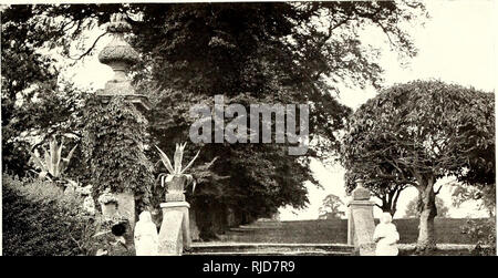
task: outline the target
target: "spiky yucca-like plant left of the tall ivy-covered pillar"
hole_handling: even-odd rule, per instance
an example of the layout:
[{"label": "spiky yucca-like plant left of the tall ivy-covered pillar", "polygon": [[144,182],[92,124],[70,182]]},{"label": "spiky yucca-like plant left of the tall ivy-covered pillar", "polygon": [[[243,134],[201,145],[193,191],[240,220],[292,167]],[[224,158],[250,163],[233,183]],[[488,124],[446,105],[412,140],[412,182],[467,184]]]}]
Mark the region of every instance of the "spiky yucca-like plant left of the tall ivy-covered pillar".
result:
[{"label": "spiky yucca-like plant left of the tall ivy-covered pillar", "polygon": [[76,150],[75,145],[66,157],[62,157],[62,148],[64,146],[64,138],[62,138],[61,145],[58,144],[55,137],[49,143],[50,151],[43,147],[44,157],[41,158],[38,150],[31,154],[31,161],[34,166],[40,169],[39,177],[48,178],[50,181],[60,179],[64,171],[68,168],[68,165],[73,156],[74,150]]}]

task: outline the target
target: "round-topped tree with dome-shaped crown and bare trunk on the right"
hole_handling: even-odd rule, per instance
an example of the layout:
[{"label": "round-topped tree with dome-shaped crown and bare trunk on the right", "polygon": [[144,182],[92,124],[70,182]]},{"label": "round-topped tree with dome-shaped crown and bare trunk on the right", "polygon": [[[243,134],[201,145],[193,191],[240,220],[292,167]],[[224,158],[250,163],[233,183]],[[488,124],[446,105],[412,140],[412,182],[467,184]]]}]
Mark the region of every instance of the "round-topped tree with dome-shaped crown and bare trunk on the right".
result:
[{"label": "round-topped tree with dome-shaped crown and bare trunk on the right", "polygon": [[418,189],[417,248],[428,250],[436,245],[435,197],[440,187],[434,184],[443,176],[466,176],[478,154],[495,147],[491,142],[492,93],[440,81],[414,81],[382,91],[354,113],[344,136],[342,163],[365,173],[367,166],[377,181]]}]

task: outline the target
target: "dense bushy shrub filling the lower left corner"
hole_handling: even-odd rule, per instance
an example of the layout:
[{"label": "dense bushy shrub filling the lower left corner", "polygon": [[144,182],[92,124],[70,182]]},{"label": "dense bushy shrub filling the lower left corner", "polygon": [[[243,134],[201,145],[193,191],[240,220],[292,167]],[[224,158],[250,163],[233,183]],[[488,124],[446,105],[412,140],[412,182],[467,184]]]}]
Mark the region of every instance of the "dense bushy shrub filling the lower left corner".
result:
[{"label": "dense bushy shrub filling the lower left corner", "polygon": [[76,193],[50,182],[2,176],[3,255],[76,256],[94,254],[95,219],[85,215]]}]

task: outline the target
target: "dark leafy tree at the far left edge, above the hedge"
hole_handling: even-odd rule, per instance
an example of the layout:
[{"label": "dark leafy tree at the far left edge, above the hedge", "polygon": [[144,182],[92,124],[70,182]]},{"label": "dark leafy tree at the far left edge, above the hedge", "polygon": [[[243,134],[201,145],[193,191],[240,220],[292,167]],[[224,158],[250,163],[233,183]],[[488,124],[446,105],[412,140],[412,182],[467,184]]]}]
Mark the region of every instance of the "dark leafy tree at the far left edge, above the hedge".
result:
[{"label": "dark leafy tree at the far left edge, above the hedge", "polygon": [[[2,169],[19,176],[32,165],[30,153],[54,134],[74,133],[84,93],[59,76],[46,48],[54,29],[32,6],[1,7]],[[63,35],[63,32],[59,32]],[[80,134],[72,134],[76,137]],[[73,143],[71,143],[73,144]]]}]

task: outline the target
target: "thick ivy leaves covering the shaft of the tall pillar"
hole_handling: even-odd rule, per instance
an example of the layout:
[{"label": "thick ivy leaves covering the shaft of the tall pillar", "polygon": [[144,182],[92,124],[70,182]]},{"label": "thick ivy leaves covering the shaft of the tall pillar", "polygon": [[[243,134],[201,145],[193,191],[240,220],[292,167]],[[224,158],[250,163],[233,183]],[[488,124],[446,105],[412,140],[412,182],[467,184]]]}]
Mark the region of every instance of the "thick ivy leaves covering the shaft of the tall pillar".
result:
[{"label": "thick ivy leaves covering the shaft of the tall pillar", "polygon": [[123,97],[89,99],[84,109],[82,148],[93,194],[106,188],[135,193],[136,209],[149,205],[153,165],[145,155],[147,121]]}]

